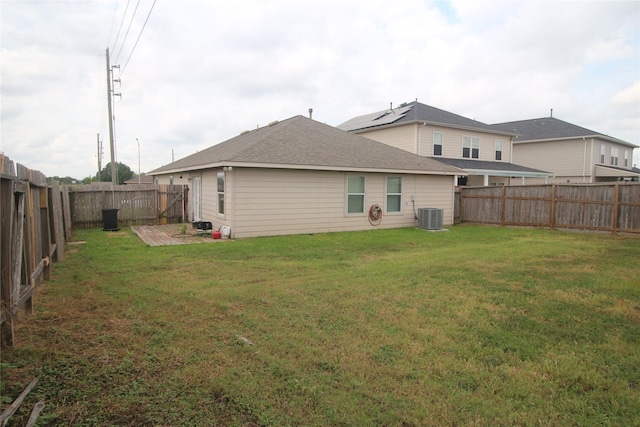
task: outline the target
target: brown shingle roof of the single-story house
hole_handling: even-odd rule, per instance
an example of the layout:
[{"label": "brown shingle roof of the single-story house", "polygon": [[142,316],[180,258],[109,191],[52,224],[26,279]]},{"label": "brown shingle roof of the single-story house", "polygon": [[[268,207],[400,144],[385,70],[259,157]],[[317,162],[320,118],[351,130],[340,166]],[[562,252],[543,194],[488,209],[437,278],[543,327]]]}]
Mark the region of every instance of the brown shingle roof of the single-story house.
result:
[{"label": "brown shingle roof of the single-story house", "polygon": [[456,167],[303,116],[245,131],[148,174],[221,166],[466,175]]}]

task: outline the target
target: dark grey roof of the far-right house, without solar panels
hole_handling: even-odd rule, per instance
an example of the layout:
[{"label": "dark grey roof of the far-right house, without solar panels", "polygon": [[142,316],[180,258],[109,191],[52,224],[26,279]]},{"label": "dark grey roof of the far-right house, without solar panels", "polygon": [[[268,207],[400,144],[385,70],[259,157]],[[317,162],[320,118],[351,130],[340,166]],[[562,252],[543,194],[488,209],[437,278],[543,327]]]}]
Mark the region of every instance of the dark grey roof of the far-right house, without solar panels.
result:
[{"label": "dark grey roof of the far-right house, without solar panels", "polygon": [[516,134],[517,137],[513,141],[515,143],[553,139],[598,137],[601,139],[616,142],[618,144],[627,145],[629,147],[636,147],[636,145],[629,142],[622,141],[620,139],[613,138],[587,128],[583,128],[569,122],[565,122],[564,120],[556,119],[555,117],[544,117],[539,119],[497,123],[491,125],[491,127],[499,131],[511,132]]}]

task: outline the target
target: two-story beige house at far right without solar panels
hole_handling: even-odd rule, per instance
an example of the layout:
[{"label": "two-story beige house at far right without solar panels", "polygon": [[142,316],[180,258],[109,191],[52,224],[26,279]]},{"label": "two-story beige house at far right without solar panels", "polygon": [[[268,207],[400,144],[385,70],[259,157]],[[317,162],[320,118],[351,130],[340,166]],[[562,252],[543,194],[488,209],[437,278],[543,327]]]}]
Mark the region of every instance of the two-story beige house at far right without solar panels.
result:
[{"label": "two-story beige house at far right without solar panels", "polygon": [[545,117],[499,123],[492,128],[516,134],[513,161],[554,173],[554,183],[638,181],[636,145],[580,126]]}]

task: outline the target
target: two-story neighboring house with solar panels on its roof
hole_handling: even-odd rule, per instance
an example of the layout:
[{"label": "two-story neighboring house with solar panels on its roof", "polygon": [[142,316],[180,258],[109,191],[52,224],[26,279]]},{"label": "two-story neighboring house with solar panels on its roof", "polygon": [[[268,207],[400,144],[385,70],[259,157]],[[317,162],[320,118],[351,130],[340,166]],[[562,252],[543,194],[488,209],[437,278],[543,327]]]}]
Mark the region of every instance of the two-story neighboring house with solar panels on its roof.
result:
[{"label": "two-story neighboring house with solar panels on its roof", "polygon": [[514,132],[500,130],[417,101],[358,116],[337,126],[438,160],[468,173],[460,185],[524,184],[552,174],[513,162]]}]

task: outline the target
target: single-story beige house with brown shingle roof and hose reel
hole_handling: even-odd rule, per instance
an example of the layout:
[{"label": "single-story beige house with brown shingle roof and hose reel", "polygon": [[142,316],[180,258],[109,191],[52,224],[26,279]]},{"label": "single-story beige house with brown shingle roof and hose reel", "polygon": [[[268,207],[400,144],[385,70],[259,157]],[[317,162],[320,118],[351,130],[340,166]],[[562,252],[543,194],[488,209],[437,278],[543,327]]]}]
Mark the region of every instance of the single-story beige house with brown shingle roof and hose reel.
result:
[{"label": "single-story beige house with brown shingle roof and hose reel", "polygon": [[423,207],[442,209],[449,225],[465,172],[295,116],[148,175],[189,186],[192,221],[245,238],[410,227]]}]

